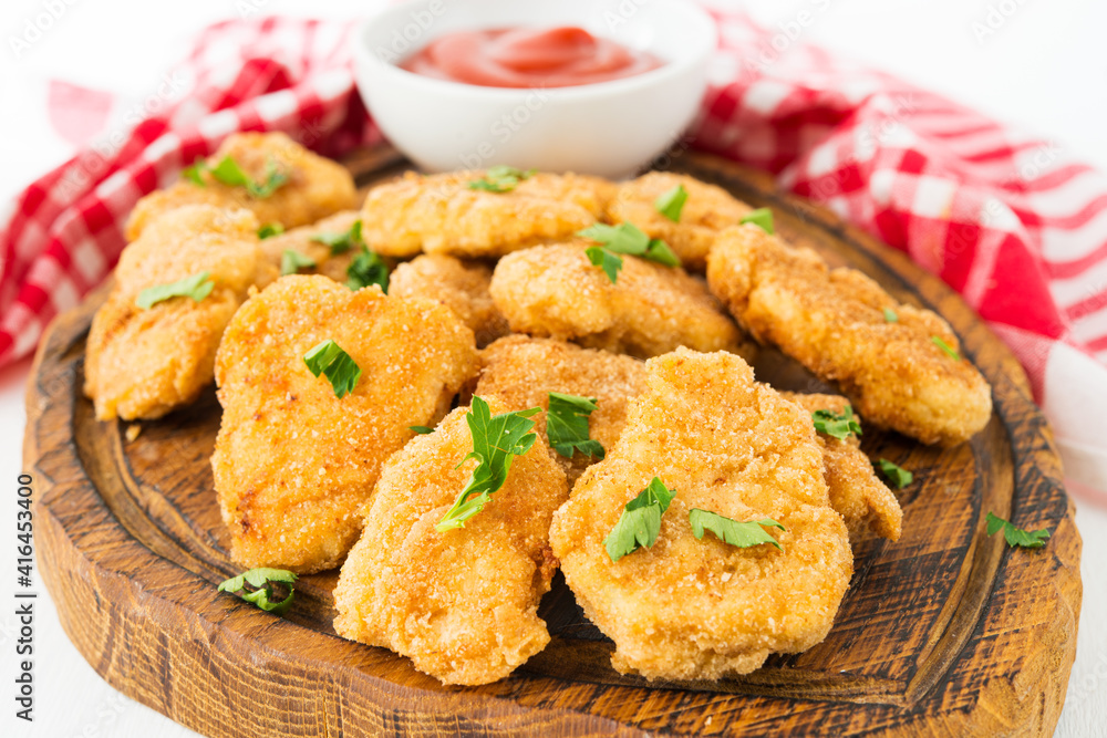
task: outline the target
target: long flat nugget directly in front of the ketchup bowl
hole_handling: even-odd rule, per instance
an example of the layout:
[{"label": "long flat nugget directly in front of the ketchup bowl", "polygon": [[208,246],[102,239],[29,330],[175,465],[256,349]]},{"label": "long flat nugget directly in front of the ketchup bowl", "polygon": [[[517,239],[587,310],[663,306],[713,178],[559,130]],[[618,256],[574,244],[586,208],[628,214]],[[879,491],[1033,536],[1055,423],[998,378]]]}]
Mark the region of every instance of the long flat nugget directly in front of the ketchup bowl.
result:
[{"label": "long flat nugget directly in front of the ketchup bowl", "polygon": [[498,257],[594,224],[613,190],[609,181],[575,174],[536,174],[506,193],[469,187],[486,176],[407,173],[374,187],[362,206],[365,240],[400,258],[420,251]]}]

